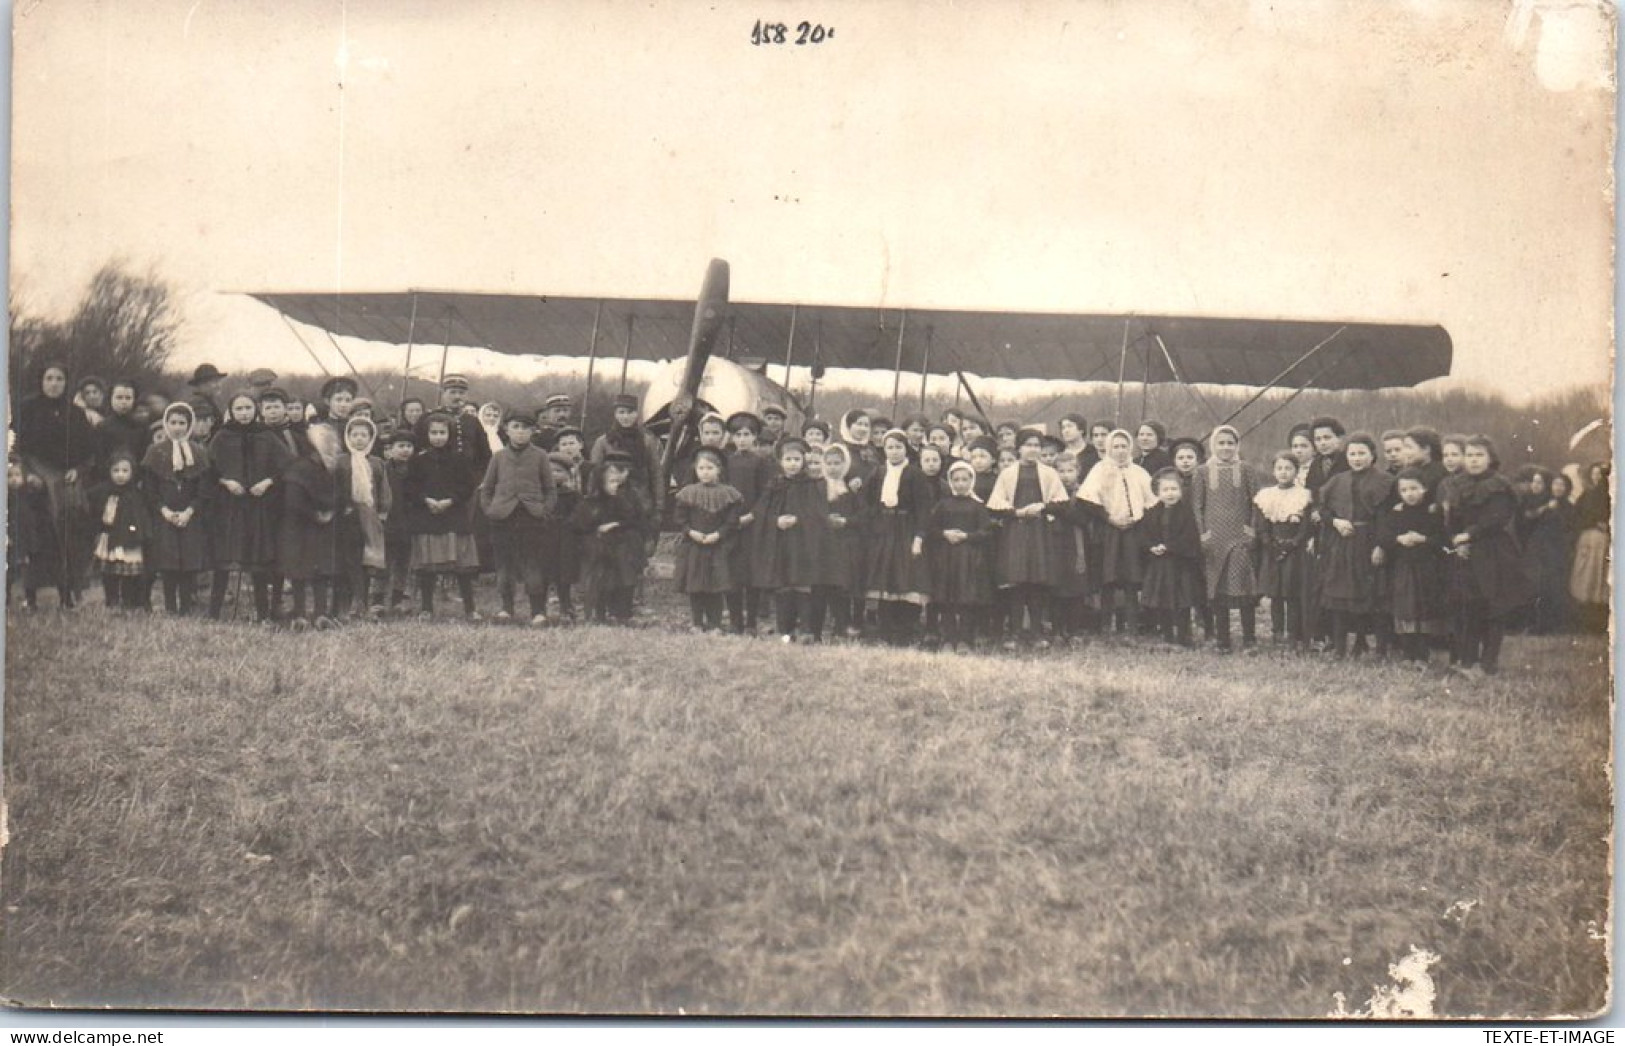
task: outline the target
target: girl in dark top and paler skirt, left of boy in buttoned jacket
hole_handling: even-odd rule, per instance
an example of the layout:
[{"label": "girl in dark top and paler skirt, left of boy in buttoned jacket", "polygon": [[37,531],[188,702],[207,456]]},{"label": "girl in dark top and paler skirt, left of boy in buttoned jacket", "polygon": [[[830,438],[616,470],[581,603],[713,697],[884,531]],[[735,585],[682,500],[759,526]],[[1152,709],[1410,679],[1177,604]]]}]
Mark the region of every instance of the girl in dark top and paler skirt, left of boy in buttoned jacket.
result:
[{"label": "girl in dark top and paler skirt, left of boy in buttoned jacket", "polygon": [[452,447],[453,424],[457,421],[444,411],[429,414],[424,427],[429,445],[406,469],[406,526],[413,536],[411,570],[418,575],[422,620],[434,617],[434,581],[440,573],[457,577],[463,617],[479,620],[474,611],[479,551],[468,517],[474,482],[468,460]]}]

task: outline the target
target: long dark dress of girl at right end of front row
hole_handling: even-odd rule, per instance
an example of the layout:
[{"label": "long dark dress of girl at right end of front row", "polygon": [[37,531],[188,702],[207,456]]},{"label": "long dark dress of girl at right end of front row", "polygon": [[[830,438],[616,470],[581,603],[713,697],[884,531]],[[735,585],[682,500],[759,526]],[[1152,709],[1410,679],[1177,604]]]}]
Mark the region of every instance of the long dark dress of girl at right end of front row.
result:
[{"label": "long dark dress of girl at right end of front row", "polygon": [[1490,619],[1505,617],[1532,596],[1511,531],[1518,495],[1498,473],[1462,476],[1445,515],[1446,539],[1469,536],[1467,555],[1450,557],[1450,601],[1458,609],[1482,607]]}]

